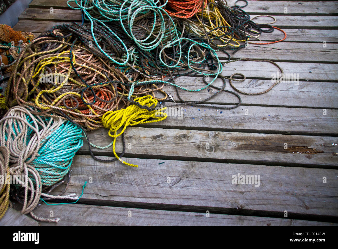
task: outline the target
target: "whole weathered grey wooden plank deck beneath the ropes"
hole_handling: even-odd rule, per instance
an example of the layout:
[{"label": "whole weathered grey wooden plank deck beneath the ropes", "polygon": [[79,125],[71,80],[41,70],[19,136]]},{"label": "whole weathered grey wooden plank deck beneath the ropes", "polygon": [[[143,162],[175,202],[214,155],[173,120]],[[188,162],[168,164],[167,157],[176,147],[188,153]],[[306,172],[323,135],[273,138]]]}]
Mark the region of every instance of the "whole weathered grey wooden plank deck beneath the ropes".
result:
[{"label": "whole weathered grey wooden plank deck beneath the ropes", "polygon": [[[228,2],[232,6],[235,1]],[[36,215],[49,217],[53,211],[60,218],[57,224],[41,225],[338,223],[338,4],[249,1],[244,11],[251,17],[273,15],[277,19],[273,25],[285,30],[287,38],[249,45],[232,58],[272,60],[285,73],[299,74],[299,84],[282,82],[258,96],[240,94],[243,104],[236,109],[184,106],[182,119],[168,117],[128,127],[124,160],[138,168],[94,161],[84,145],[75,155],[67,191],[79,196],[88,181],[84,194],[77,204],[41,204]],[[81,22],[81,13],[70,9],[66,0],[33,0],[14,29],[38,36],[55,24],[71,21]],[[275,41],[283,34],[275,30],[260,38]],[[222,74],[241,72],[247,79],[236,83],[239,89],[259,92],[271,86],[277,71],[267,62],[238,61],[226,65]],[[181,77],[178,84],[204,85],[201,77]],[[215,85],[221,86],[221,79]],[[226,89],[232,90],[228,82]],[[173,87],[164,90],[178,100]],[[195,101],[212,94],[212,90],[194,95],[182,91],[181,96]],[[237,103],[232,95],[218,96],[210,103]],[[92,132],[90,138],[101,146],[112,141],[106,129]],[[114,156],[111,149],[95,151]],[[117,152],[121,151],[119,143]],[[259,175],[259,186],[233,184],[238,173]],[[21,224],[39,225],[14,209],[0,224],[21,219]]]}]

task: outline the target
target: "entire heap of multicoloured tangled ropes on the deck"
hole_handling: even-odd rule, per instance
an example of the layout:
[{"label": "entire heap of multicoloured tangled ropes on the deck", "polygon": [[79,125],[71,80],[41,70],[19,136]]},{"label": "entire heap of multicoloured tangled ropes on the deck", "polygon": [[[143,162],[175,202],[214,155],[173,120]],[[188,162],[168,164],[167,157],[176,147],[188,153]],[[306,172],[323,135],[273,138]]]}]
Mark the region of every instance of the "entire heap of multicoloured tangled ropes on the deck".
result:
[{"label": "entire heap of multicoloured tangled ropes on the deck", "polygon": [[[82,12],[82,24],[54,26],[21,49],[13,64],[3,101],[9,110],[0,121],[0,170],[18,184],[10,190],[8,184],[0,184],[0,219],[11,196],[22,203],[23,213],[57,222],[37,217],[33,210],[40,201],[77,200],[62,196],[67,184],[58,196],[50,192],[69,183],[72,158],[83,144],[82,137],[95,160],[138,167],[121,159],[127,126],[162,121],[171,106],[233,109],[242,101],[238,93],[263,94],[278,84],[280,80],[261,92],[244,92],[233,83],[244,81],[243,74],[224,76],[225,66],[236,61],[269,62],[283,73],[269,60],[231,59],[229,51],[234,54],[247,43],[272,44],[286,38],[283,30],[271,26],[275,18],[256,23],[256,17],[242,9],[248,2],[244,0],[244,6],[238,2],[231,7],[225,0],[69,0],[70,8]],[[274,29],[285,37],[263,43],[260,35]],[[225,54],[224,61],[219,51]],[[205,86],[186,88],[177,81],[182,76],[203,77]],[[218,78],[221,87],[214,85]],[[225,89],[227,80],[233,91]],[[175,88],[179,101],[172,102],[165,85]],[[216,91],[199,101],[184,100],[179,94],[210,87]],[[236,96],[238,103],[230,107],[206,103],[222,92]],[[165,107],[158,109],[159,101]],[[109,129],[113,138],[104,147],[92,144],[87,133],[101,127]],[[119,155],[118,137],[123,145]],[[112,159],[98,158],[92,151],[111,146]]]}]

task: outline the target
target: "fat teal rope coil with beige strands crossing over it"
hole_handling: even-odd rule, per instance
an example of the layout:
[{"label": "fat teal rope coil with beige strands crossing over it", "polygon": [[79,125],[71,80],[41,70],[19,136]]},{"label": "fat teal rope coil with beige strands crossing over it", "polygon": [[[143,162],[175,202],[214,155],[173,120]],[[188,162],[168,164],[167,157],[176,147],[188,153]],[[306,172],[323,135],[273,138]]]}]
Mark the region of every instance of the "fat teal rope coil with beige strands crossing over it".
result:
[{"label": "fat teal rope coil with beige strands crossing over it", "polygon": [[[11,163],[21,163],[21,160],[25,159],[22,163],[32,165],[39,172],[42,184],[52,186],[64,178],[70,169],[76,151],[82,147],[82,130],[69,121],[57,121],[55,125],[53,118],[35,118],[27,113],[24,116],[26,120],[22,120],[22,118],[22,115],[17,118],[10,114],[4,117],[1,121],[3,136],[0,137],[0,144],[17,152],[16,154],[11,153]],[[40,144],[36,144],[38,129],[40,133],[41,129],[45,132],[43,133],[45,136],[40,137]],[[19,146],[16,148],[14,147],[16,145]],[[25,151],[26,156],[22,157],[22,152],[19,152],[18,149],[21,151],[35,149],[37,153],[34,156],[29,151]],[[28,176],[35,184],[32,174],[29,173]]]}]

